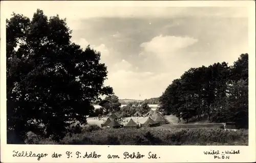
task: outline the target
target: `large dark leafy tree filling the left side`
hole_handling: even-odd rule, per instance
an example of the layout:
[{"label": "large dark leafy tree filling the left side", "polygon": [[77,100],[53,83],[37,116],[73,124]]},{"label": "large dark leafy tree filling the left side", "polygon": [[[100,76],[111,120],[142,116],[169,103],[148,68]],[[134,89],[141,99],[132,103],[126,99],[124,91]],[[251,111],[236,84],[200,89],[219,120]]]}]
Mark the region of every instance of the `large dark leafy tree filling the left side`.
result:
[{"label": "large dark leafy tree filling the left side", "polygon": [[30,20],[13,13],[6,32],[10,137],[23,140],[31,130],[58,140],[70,123],[87,123],[91,101],[113,92],[103,86],[108,71],[100,53],[71,43],[71,30],[58,15],[48,18],[38,9]]}]

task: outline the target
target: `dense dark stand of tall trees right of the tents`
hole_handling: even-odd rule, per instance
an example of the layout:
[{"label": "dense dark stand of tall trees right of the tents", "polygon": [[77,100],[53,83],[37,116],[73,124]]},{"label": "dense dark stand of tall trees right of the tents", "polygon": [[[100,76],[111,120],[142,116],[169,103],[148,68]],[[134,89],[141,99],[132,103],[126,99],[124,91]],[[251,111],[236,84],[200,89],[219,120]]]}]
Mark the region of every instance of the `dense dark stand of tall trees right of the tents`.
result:
[{"label": "dense dark stand of tall trees right of the tents", "polygon": [[228,66],[215,63],[190,68],[173,80],[159,99],[160,110],[178,121],[202,115],[212,122],[236,122],[248,127],[248,54]]}]

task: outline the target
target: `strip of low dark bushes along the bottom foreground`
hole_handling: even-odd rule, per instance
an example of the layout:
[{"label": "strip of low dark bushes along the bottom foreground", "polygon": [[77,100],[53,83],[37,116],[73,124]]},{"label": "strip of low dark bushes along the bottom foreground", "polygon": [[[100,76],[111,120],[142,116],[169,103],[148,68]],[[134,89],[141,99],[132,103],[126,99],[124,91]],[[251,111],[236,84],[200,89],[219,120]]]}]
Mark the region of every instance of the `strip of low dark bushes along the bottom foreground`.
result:
[{"label": "strip of low dark bushes along the bottom foreground", "polygon": [[108,128],[87,125],[59,142],[31,133],[26,144],[62,145],[248,145],[248,130],[220,128]]}]

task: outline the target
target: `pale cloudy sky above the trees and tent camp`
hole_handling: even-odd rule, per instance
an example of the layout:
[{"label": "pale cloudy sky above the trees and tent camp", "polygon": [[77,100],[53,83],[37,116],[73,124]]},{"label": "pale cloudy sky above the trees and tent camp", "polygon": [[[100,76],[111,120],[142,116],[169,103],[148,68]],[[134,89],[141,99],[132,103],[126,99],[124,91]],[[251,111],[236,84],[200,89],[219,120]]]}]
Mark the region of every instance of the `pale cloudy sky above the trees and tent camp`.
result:
[{"label": "pale cloudy sky above the trees and tent camp", "polygon": [[31,18],[37,8],[47,16],[66,17],[72,42],[101,52],[109,71],[104,84],[120,99],[159,97],[189,68],[224,61],[232,65],[248,52],[244,7],[107,7],[65,1],[4,5],[10,7],[7,18],[12,12]]}]

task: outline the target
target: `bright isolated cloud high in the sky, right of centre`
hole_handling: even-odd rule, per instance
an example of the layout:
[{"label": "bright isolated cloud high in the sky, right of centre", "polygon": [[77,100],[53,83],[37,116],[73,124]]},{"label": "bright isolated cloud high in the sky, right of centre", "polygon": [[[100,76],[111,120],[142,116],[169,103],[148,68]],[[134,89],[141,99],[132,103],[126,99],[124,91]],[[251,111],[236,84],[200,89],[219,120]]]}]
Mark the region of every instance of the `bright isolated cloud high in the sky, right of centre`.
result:
[{"label": "bright isolated cloud high in the sky, right of centre", "polygon": [[179,67],[181,72],[191,65],[191,62],[184,58],[192,54],[186,48],[197,42],[198,39],[191,37],[156,36],[151,41],[140,45],[142,50],[139,57],[144,58],[142,63],[144,69],[167,72]]}]

